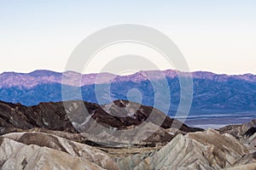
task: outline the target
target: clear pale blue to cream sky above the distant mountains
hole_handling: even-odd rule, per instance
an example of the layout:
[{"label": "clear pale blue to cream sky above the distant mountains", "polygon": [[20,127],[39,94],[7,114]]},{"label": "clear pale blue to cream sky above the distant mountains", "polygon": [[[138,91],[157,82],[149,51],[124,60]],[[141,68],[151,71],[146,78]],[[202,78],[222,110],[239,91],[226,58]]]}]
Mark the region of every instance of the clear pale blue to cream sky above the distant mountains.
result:
[{"label": "clear pale blue to cream sky above the distant mountains", "polygon": [[[190,71],[256,74],[255,8],[254,0],[0,0],[0,72],[65,71],[85,37],[108,26],[136,24],[170,37]],[[86,72],[101,70],[120,51],[137,54],[138,48],[159,57],[123,44],[99,54]],[[160,70],[172,69],[158,61]],[[150,68],[142,64],[141,70]]]}]

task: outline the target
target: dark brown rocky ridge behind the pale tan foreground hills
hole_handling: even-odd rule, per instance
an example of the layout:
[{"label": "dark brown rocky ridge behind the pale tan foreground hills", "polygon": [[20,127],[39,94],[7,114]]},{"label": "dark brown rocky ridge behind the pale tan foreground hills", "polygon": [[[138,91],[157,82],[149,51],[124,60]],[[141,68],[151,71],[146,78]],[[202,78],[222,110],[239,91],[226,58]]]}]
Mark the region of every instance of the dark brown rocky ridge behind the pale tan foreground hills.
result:
[{"label": "dark brown rocky ridge behind the pale tan foreground hills", "polygon": [[[67,101],[31,107],[0,102],[0,134],[37,127],[44,131],[83,133],[79,138],[87,144],[94,141],[102,145],[121,144],[122,147],[124,144],[166,144],[174,136],[166,131],[171,127],[183,133],[202,130],[188,127],[153,107],[125,100],[110,105]],[[132,132],[124,133],[128,130]]]}]

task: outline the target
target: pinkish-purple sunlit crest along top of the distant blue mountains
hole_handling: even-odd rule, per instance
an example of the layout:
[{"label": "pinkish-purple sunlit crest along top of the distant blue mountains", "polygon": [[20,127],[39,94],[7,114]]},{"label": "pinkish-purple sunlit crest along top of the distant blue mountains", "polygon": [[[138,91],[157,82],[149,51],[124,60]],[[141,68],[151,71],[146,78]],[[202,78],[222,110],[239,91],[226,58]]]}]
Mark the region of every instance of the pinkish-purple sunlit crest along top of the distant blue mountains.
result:
[{"label": "pinkish-purple sunlit crest along top of the distant blue mountains", "polygon": [[[92,73],[80,74],[74,71],[55,72],[55,71],[32,71],[30,73],[3,72],[0,74],[0,88],[34,88],[39,84],[60,83],[70,86],[82,87],[84,85],[102,84],[111,82],[143,82],[148,80],[150,75],[153,80],[160,80],[163,77],[174,78],[179,74],[186,75],[185,72],[166,70],[166,71],[139,71],[128,76],[118,76],[111,73]],[[191,72],[193,78],[212,80],[215,82],[227,82],[230,79],[246,82],[256,82],[256,76],[253,74],[244,75],[225,75],[214,74],[207,71]],[[64,78],[63,78],[64,77]],[[98,78],[97,78],[98,77]]]}]

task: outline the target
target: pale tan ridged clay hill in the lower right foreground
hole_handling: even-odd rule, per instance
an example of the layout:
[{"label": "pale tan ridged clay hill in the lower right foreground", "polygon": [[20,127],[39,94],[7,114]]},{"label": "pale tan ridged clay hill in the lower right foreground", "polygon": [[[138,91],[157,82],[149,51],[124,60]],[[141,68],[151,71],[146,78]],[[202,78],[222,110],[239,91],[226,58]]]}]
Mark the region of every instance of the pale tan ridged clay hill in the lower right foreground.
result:
[{"label": "pale tan ridged clay hill in the lower right foreground", "polygon": [[177,135],[135,169],[222,169],[241,164],[256,168],[254,161],[247,147],[230,134],[207,130]]}]

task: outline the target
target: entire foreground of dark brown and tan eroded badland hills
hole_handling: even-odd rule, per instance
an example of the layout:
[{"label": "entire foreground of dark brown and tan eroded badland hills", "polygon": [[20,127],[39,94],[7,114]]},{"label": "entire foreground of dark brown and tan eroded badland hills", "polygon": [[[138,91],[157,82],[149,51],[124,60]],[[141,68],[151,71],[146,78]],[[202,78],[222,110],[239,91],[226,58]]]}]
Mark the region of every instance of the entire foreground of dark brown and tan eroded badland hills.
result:
[{"label": "entire foreground of dark brown and tan eroded badland hills", "polygon": [[[79,114],[79,104],[79,101],[70,102],[70,111]],[[96,134],[89,131],[79,133],[78,128],[74,128],[74,123],[67,118],[61,103],[26,107],[2,102],[0,168],[256,169],[256,121],[202,131],[170,117],[157,126],[152,118],[147,120],[154,108],[128,101],[120,100],[114,105],[102,107],[86,102],[83,105],[88,108],[91,119],[117,132],[119,129],[137,127],[143,122],[146,122],[147,128],[138,131],[132,139],[132,136],[119,134],[121,140],[98,131],[94,131],[98,132]],[[131,119],[132,108],[137,106]],[[108,111],[103,110],[104,107]],[[159,116],[164,116],[160,111],[155,111]],[[123,117],[118,118],[115,114],[122,114]],[[76,126],[82,130],[90,127],[83,122]],[[146,133],[152,135],[140,140],[147,137]]]}]

